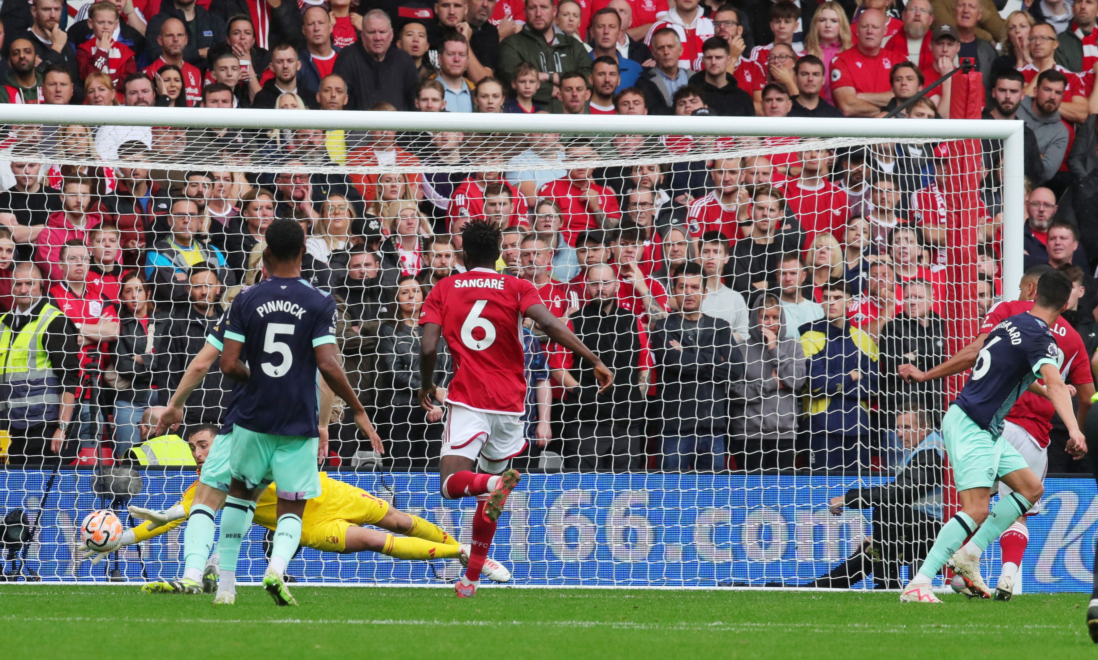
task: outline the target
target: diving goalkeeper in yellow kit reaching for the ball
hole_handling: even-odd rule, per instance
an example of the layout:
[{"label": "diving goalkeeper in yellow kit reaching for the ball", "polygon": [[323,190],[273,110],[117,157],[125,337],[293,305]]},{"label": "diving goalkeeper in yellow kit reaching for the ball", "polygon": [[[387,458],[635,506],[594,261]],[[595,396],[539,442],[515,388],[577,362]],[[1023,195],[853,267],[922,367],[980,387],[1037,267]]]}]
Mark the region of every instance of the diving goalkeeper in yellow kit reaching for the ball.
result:
[{"label": "diving goalkeeper in yellow kit reaching for the ball", "polygon": [[[187,439],[194,456],[194,462],[202,470],[208,457],[213,460],[219,452],[216,444],[224,438],[216,438],[217,427],[212,425],[198,426],[191,430]],[[227,444],[226,444],[227,447]],[[130,512],[137,517],[148,518],[133,529],[127,529],[122,537],[121,546],[127,546],[159,536],[178,527],[190,515],[194,493],[199,488],[198,480],[183,493],[182,501],[166,512],[148,511],[131,506]],[[278,525],[278,495],[276,484],[267,486],[256,504],[254,522],[274,529]],[[362,489],[343,481],[330,479],[321,473],[321,496],[310,500],[302,517],[302,545],[307,548],[329,552],[371,551],[388,555],[396,559],[461,559],[466,561],[469,555],[468,546],[458,545],[449,534],[438,526],[421,518],[392,508],[388,502],[371,495]],[[390,532],[408,535],[411,538],[397,537],[392,534],[368,529],[359,525],[377,525]],[[97,553],[88,550],[86,558]],[[215,552],[211,561],[216,563]],[[485,566],[489,579],[506,582],[511,572],[494,561]],[[208,570],[203,575],[203,585],[189,584],[184,581],[150,582],[143,588],[146,593],[199,593],[212,591],[214,571]]]}]

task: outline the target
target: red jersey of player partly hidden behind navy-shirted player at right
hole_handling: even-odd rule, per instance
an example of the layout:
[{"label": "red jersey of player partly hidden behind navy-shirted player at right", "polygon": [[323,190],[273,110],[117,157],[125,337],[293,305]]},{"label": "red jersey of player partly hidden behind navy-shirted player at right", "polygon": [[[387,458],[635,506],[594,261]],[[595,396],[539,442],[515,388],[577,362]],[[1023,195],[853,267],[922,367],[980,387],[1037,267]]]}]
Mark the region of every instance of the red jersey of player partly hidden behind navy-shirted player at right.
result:
[{"label": "red jersey of player partly hidden behind navy-shirted player at right", "polygon": [[[1033,301],[1031,300],[997,302],[987,311],[987,316],[979,325],[979,334],[989,333],[1002,321],[1032,309]],[[1064,378],[1064,382],[1069,382],[1073,385],[1094,382],[1094,374],[1090,373],[1090,358],[1087,357],[1087,349],[1079,333],[1063,317],[1056,318],[1056,323],[1052,324],[1049,329],[1052,331],[1052,335],[1056,338],[1056,346],[1060,347],[1060,374]],[[1024,428],[1041,447],[1047,447],[1049,432],[1052,430],[1052,416],[1055,413],[1056,409],[1044,396],[1032,392],[1022,392],[1013,407],[1007,413],[1007,421]]]}]

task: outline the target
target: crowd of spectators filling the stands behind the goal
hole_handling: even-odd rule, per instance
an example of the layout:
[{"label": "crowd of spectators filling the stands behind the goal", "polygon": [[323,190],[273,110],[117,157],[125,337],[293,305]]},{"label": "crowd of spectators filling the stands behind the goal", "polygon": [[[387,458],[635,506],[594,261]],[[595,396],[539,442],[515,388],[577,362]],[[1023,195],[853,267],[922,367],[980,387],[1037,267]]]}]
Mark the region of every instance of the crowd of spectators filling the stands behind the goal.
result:
[{"label": "crowd of spectators filling the stands behind the goal", "polygon": [[[1078,283],[1068,317],[1091,355],[1098,347],[1098,0],[1042,0],[1007,20],[991,0],[70,9],[0,5],[0,101],[885,116],[972,58],[983,116],[1026,122],[1027,266]],[[950,116],[961,80],[899,116]],[[132,456],[145,411],[167,401],[210,324],[262,277],[274,217],[302,223],[303,277],[340,301],[346,370],[390,445],[386,467],[437,462],[442,424],[416,403],[416,321],[430,288],[463,270],[461,227],[473,217],[503,228],[498,269],[531,280],[616,374],[598,395],[585,365],[524,328],[520,465],[892,469],[937,435],[944,412],[941,383],[903,382],[896,368],[945,357],[945,219],[959,211],[945,146],[768,138],[789,153],[670,164],[657,161],[695,139],[9,128],[0,403],[12,465],[93,463],[100,446],[107,460]],[[607,153],[635,164],[582,165]],[[979,216],[981,315],[1001,293],[999,153],[985,150],[978,209],[967,210]],[[438,370],[445,384],[452,365],[444,357]],[[219,423],[228,390],[211,369],[187,424]],[[337,416],[329,430],[333,465],[367,460],[352,424]],[[1052,471],[1069,469],[1062,462]]]}]

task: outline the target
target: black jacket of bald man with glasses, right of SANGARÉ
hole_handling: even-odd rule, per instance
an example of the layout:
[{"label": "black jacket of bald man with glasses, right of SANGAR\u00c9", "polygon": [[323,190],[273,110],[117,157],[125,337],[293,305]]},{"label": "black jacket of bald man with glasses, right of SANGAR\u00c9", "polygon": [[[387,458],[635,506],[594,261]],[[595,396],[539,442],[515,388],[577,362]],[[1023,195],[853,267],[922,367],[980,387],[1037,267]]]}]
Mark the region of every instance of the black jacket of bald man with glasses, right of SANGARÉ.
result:
[{"label": "black jacket of bald man with glasses, right of SANGAR\u00c9", "polygon": [[632,406],[640,399],[637,382],[640,374],[640,329],[637,316],[609,301],[609,312],[603,311],[607,301],[592,301],[572,316],[575,336],[614,372],[614,387],[600,393],[595,381],[594,365],[574,356],[572,377],[579,383],[569,392],[565,418],[584,422],[627,423],[634,415]]}]

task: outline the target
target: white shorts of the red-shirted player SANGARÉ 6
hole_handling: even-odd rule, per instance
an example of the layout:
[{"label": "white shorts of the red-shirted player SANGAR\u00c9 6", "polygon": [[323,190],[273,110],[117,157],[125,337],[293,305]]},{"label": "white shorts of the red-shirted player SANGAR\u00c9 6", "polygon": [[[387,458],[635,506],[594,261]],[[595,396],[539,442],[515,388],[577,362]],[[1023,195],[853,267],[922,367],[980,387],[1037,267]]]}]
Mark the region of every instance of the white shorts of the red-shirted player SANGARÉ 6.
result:
[{"label": "white shorts of the red-shirted player SANGAR\u00c9 6", "polygon": [[520,415],[474,411],[446,402],[442,456],[463,456],[498,462],[526,449],[525,424]]}]

